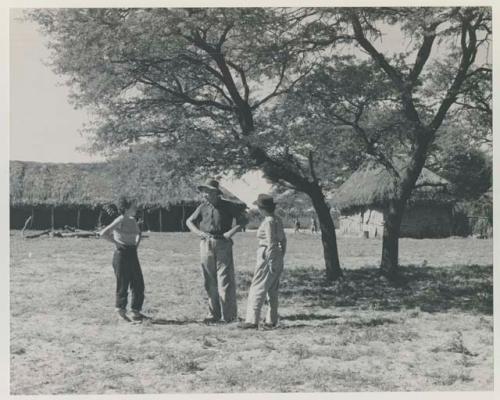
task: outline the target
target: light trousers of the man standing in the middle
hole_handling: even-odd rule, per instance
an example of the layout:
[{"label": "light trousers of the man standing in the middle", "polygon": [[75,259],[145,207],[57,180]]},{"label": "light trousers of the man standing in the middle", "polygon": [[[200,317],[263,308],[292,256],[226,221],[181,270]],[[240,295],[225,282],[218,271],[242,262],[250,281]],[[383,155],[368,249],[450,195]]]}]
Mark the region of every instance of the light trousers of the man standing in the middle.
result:
[{"label": "light trousers of the man standing in the middle", "polygon": [[210,317],[226,322],[235,320],[237,307],[233,241],[202,240],[200,254]]}]

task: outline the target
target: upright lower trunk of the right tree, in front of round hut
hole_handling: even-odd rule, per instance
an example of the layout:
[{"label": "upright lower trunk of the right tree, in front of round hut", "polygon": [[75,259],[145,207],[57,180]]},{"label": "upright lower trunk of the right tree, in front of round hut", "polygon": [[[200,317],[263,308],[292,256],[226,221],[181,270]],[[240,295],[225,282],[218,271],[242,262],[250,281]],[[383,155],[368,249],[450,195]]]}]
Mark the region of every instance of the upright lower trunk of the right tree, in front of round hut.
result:
[{"label": "upright lower trunk of the right tree, in front of round hut", "polygon": [[403,204],[402,201],[391,201],[384,213],[380,270],[388,278],[396,277],[399,272],[399,234],[404,211]]}]

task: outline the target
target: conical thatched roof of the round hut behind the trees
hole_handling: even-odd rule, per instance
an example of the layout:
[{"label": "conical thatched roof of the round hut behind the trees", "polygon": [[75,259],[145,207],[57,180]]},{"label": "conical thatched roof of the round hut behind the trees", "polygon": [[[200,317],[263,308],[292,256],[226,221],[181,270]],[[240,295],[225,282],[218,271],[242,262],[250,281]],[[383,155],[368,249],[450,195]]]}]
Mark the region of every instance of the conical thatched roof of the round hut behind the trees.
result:
[{"label": "conical thatched roof of the round hut behind the trees", "polygon": [[[449,182],[427,168],[417,180],[418,188],[410,198],[412,204],[444,204],[453,201]],[[333,194],[332,205],[344,214],[367,208],[384,208],[394,198],[396,188],[390,173],[380,164],[364,163]]]}]

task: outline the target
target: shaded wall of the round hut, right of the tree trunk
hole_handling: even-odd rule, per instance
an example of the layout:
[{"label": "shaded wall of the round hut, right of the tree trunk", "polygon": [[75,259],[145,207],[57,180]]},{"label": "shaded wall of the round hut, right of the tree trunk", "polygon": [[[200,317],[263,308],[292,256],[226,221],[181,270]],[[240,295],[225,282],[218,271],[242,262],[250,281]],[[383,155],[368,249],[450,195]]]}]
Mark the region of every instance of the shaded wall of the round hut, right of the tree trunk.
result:
[{"label": "shaded wall of the round hut, right of the tree trunk", "polygon": [[440,238],[452,234],[451,206],[414,206],[408,208],[403,215],[401,237]]}]

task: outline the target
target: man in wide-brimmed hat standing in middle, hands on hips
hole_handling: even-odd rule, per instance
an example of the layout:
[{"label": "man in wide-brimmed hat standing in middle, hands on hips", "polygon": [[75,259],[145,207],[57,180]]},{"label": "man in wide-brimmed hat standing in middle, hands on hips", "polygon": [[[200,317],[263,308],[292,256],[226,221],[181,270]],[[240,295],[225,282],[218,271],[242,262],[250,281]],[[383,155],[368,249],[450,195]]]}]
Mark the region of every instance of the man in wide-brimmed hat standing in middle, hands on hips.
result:
[{"label": "man in wide-brimmed hat standing in middle, hands on hips", "polygon": [[[222,198],[219,182],[210,179],[198,186],[205,199],[186,221],[201,238],[200,253],[209,316],[205,322],[231,322],[237,317],[231,237],[247,223],[245,208]],[[236,225],[233,227],[233,220]]]}]

